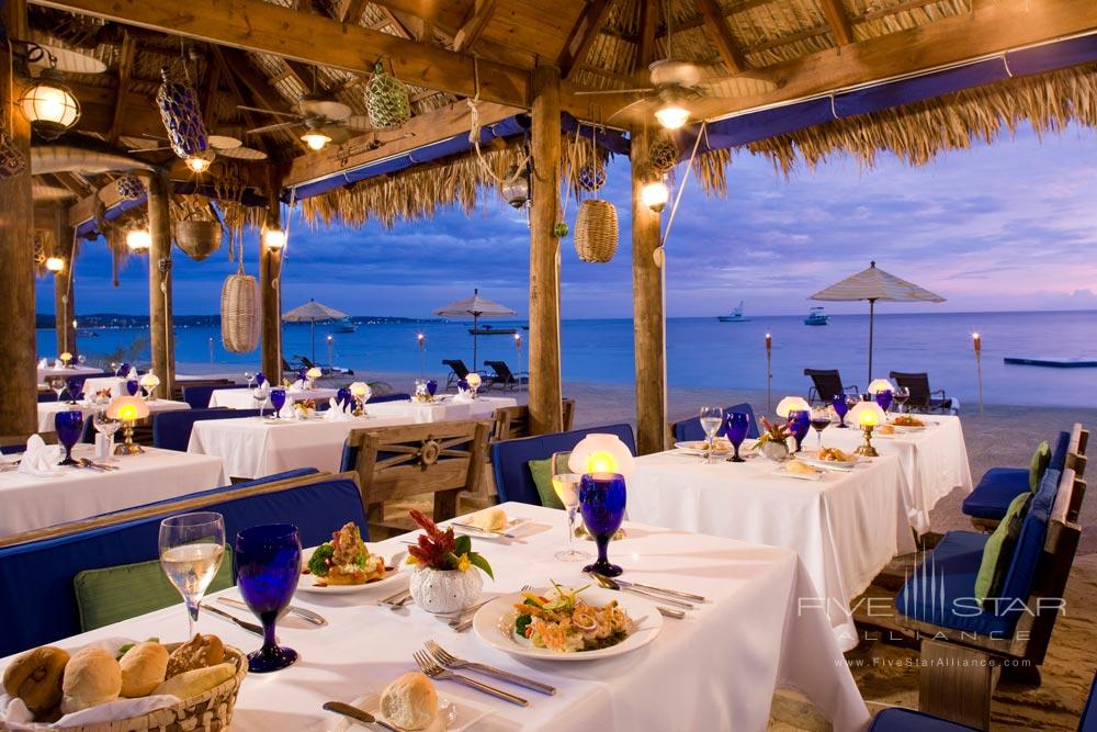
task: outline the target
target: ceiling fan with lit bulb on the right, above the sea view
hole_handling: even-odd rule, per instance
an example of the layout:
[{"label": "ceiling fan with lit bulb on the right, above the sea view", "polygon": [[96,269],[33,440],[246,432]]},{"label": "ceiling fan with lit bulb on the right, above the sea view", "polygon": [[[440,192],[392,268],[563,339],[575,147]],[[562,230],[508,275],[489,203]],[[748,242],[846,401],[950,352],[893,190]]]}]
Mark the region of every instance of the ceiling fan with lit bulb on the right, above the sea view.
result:
[{"label": "ceiling fan with lit bulb on the right, above the sea view", "polygon": [[[739,99],[777,89],[769,79],[737,74],[735,76],[701,78],[697,64],[676,61],[669,58],[652,64],[652,85],[635,89],[606,89],[601,91],[577,91],[576,94],[644,94],[642,99],[625,104],[609,116],[612,120],[625,110],[644,104],[656,106],[655,119],[667,129],[677,129],[689,122],[689,102],[695,99]],[[608,121],[608,120],[607,120]]]}]

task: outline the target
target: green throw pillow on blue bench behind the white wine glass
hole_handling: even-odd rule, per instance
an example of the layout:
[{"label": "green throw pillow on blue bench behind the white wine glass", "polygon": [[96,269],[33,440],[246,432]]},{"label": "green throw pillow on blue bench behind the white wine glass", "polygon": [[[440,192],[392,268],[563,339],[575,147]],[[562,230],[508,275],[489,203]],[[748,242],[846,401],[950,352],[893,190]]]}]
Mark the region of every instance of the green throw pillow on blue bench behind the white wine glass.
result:
[{"label": "green throw pillow on blue bench behind the white wine glass", "polygon": [[[225,559],[207,592],[225,589],[233,584],[231,550],[226,547]],[[160,568],[159,560],[84,570],[76,575],[72,585],[80,610],[80,628],[84,631],[182,601],[179,590]]]}]

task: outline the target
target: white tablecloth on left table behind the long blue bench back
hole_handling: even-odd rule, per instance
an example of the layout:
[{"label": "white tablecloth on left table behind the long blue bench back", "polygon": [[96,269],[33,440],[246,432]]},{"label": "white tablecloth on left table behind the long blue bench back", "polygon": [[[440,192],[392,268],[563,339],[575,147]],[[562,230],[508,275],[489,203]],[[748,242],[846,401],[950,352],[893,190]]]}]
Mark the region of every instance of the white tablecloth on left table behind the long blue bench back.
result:
[{"label": "white tablecloth on left table behind the long blue bench back", "polygon": [[[72,453],[94,458],[94,448],[78,444]],[[0,460],[11,460],[7,455]],[[112,459],[108,473],[59,468],[53,477],[0,473],[0,536],[41,529],[142,504],[225,485],[220,458],[145,448],[143,455]]]}]

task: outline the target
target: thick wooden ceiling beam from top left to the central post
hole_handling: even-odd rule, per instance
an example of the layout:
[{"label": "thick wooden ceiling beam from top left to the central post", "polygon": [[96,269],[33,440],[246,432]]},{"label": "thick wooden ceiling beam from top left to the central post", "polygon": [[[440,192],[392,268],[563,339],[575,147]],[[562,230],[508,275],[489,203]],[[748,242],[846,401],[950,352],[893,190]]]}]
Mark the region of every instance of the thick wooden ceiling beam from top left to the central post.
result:
[{"label": "thick wooden ceiling beam from top left to the central post", "polygon": [[[34,0],[35,3],[117,23],[146,27],[240,48],[274,54],[352,72],[387,58],[397,77],[417,87],[472,97],[476,93],[467,54],[420,44],[360,25],[340,23],[263,0],[189,0],[183,3],[137,0]],[[525,69],[480,58],[479,94],[484,101],[529,104]]]}]

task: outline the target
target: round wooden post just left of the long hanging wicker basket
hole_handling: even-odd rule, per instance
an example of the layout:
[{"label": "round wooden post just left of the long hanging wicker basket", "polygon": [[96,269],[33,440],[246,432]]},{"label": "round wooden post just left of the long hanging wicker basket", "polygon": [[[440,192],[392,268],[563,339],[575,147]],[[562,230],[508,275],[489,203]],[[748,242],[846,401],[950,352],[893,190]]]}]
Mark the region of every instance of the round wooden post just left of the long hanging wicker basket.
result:
[{"label": "round wooden post just left of the long hanging wicker basket", "polygon": [[159,395],[171,398],[176,382],[176,337],[171,318],[171,181],[154,172],[148,181],[148,325],[152,370],[160,379]]}]

